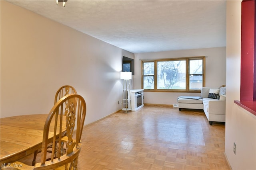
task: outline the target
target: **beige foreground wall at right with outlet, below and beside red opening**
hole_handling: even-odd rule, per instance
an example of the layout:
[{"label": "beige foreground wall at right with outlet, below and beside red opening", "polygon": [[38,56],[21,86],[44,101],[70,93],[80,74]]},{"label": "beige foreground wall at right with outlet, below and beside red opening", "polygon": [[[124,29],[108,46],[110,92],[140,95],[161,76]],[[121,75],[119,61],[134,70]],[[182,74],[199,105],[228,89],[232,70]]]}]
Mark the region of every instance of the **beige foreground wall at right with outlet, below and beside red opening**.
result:
[{"label": "beige foreground wall at right with outlet, below and beside red opening", "polygon": [[[227,96],[225,154],[233,170],[256,169],[256,116],[240,100],[241,1],[227,1]],[[233,144],[236,143],[236,154]]]}]

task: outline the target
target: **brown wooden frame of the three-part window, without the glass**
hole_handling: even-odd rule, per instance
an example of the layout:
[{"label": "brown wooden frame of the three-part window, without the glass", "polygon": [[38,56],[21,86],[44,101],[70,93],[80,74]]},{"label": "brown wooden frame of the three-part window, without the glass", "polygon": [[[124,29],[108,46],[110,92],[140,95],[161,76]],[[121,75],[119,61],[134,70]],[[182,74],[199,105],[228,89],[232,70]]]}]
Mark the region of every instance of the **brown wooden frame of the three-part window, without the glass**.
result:
[{"label": "brown wooden frame of the three-part window, without the glass", "polygon": [[[154,89],[144,89],[144,92],[201,92],[201,89],[189,89],[189,61],[190,60],[196,60],[196,59],[202,59],[202,87],[205,87],[205,68],[206,68],[206,62],[205,62],[205,56],[199,56],[199,57],[181,57],[181,58],[168,58],[168,59],[148,59],[148,60],[141,60],[141,88],[144,89],[144,63],[150,63],[154,62]],[[186,89],[185,90],[178,90],[178,89],[157,89],[157,62],[158,61],[186,61]]]}]

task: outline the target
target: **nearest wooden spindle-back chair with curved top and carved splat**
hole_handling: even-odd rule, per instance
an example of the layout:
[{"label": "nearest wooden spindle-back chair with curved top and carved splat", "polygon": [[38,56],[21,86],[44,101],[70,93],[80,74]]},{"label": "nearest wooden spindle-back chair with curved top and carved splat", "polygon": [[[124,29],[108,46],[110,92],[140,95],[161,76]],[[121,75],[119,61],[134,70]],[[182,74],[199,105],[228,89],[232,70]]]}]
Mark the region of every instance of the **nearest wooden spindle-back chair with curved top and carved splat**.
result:
[{"label": "nearest wooden spindle-back chair with curved top and carved splat", "polygon": [[[65,103],[68,104],[67,111],[65,109]],[[52,170],[60,168],[61,170],[68,170],[73,168],[76,170],[78,155],[82,147],[81,136],[85,116],[86,102],[82,96],[78,94],[68,94],[64,96],[54,105],[54,107],[52,107],[45,121],[41,162],[36,163],[35,166],[23,164],[20,168],[2,167],[1,169],[22,170],[23,168],[23,170]],[[74,129],[76,129],[76,135],[73,135]],[[64,131],[66,132],[64,133]],[[61,155],[61,140],[59,139],[61,139],[63,135],[66,136],[67,143],[66,153]],[[50,160],[46,160],[48,144],[51,142],[53,143],[53,146],[58,146],[57,157],[55,158],[55,153],[52,152]],[[13,164],[22,163],[14,162]]]}]

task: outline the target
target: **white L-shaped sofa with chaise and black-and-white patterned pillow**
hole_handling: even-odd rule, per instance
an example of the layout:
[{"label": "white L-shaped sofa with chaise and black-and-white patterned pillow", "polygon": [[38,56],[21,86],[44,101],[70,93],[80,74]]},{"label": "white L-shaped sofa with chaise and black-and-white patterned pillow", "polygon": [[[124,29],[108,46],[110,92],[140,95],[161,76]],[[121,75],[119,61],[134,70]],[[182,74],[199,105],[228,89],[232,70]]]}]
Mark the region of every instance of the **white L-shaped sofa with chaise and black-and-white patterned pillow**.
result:
[{"label": "white L-shaped sofa with chaise and black-and-white patterned pillow", "polygon": [[[212,93],[210,92],[214,92],[214,96],[211,96]],[[218,97],[215,98],[217,92]],[[226,87],[224,86],[220,88],[203,87],[201,96],[180,96],[177,98],[177,101],[180,111],[182,109],[204,109],[204,113],[210,125],[212,125],[214,121],[225,122]]]}]

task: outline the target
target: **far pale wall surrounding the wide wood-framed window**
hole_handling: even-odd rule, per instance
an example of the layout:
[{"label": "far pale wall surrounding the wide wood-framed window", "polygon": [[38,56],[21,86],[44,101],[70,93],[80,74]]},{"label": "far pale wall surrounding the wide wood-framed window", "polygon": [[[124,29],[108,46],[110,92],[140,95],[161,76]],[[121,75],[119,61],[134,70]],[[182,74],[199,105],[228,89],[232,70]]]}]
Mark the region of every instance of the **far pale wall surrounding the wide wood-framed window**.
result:
[{"label": "far pale wall surrounding the wide wood-framed window", "polygon": [[[219,87],[226,85],[226,47],[218,47],[135,54],[135,89],[142,88],[140,76],[141,60],[196,56],[207,56],[205,84],[207,87]],[[200,93],[145,92],[144,103],[168,105],[177,104],[178,96],[200,96]]]}]

